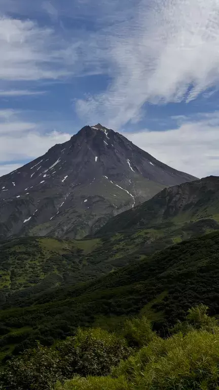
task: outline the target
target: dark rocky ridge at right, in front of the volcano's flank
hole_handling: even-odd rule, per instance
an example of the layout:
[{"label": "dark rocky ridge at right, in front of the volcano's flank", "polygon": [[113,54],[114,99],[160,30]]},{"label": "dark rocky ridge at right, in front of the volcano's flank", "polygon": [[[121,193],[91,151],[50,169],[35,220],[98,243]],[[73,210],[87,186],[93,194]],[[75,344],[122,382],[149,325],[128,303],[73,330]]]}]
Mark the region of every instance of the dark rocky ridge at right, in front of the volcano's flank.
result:
[{"label": "dark rocky ridge at right, in front of the volcano's flank", "polygon": [[[148,202],[109,220],[96,235],[138,229],[194,230],[219,222],[219,177],[209,176],[190,183],[165,188]],[[219,227],[219,226],[218,226]],[[202,232],[201,232],[202,233]]]}]

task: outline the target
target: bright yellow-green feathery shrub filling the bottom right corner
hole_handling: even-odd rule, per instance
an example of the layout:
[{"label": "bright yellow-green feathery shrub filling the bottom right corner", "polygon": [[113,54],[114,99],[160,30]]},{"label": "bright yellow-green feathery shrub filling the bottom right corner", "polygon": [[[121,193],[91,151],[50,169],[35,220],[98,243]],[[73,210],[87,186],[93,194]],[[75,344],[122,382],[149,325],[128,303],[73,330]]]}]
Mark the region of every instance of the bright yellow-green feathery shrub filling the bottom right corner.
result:
[{"label": "bright yellow-green feathery shrub filling the bottom right corner", "polygon": [[213,389],[219,380],[218,334],[193,330],[166,340],[155,338],[115,372],[131,389]]}]

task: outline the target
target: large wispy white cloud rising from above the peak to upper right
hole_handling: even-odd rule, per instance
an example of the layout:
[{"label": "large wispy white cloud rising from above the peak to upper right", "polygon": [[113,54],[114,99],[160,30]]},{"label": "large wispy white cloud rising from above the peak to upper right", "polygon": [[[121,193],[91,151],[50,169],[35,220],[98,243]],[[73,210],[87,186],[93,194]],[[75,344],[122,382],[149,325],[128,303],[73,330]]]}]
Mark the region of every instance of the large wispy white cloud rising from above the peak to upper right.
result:
[{"label": "large wispy white cloud rising from above the peak to upper right", "polygon": [[[119,128],[145,102],[190,102],[219,82],[219,3],[216,0],[141,0],[127,23],[103,31],[112,83],[78,100],[90,122]],[[104,41],[105,38],[105,41]]]}]

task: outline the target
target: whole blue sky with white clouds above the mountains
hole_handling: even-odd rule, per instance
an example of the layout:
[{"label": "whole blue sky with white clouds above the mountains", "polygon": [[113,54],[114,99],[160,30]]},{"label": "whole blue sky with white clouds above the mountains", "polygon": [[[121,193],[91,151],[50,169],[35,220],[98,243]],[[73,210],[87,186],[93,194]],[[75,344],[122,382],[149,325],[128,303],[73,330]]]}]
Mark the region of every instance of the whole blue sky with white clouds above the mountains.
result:
[{"label": "whole blue sky with white clouds above the mountains", "polygon": [[0,176],[86,124],[219,174],[218,0],[0,0]]}]

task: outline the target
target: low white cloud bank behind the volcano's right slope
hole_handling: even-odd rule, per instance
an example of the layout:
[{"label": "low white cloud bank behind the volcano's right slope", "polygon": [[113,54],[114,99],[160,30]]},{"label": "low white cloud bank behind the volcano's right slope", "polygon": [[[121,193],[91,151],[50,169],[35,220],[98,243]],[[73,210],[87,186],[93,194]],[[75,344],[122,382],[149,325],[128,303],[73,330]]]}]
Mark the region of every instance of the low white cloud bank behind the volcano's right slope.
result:
[{"label": "low white cloud bank behind the volcano's right slope", "polygon": [[219,112],[165,132],[123,133],[163,163],[196,177],[219,175]]}]

